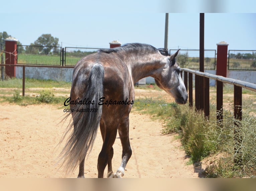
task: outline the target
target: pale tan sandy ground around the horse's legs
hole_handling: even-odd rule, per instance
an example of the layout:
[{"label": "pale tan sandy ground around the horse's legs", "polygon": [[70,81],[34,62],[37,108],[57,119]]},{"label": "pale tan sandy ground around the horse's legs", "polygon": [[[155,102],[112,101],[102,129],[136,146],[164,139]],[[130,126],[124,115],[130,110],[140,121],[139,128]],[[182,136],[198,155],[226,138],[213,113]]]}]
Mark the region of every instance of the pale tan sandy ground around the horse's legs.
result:
[{"label": "pale tan sandy ground around the horse's legs", "polygon": [[[163,96],[165,92],[136,90],[138,96]],[[159,95],[158,95],[159,94]],[[57,163],[63,143],[58,145],[68,122],[63,122],[63,109],[49,104],[19,106],[4,103],[0,115],[0,177],[5,178],[63,178]],[[177,135],[162,135],[161,121],[138,112],[130,114],[130,142],[132,156],[126,166],[124,178],[197,178],[203,169],[186,165],[189,158],[182,150]],[[102,139],[98,132],[94,147],[85,162],[85,177],[97,177],[97,158]],[[117,135],[112,160],[113,171],[121,164],[122,147]],[[106,176],[107,169],[104,176]]]}]

